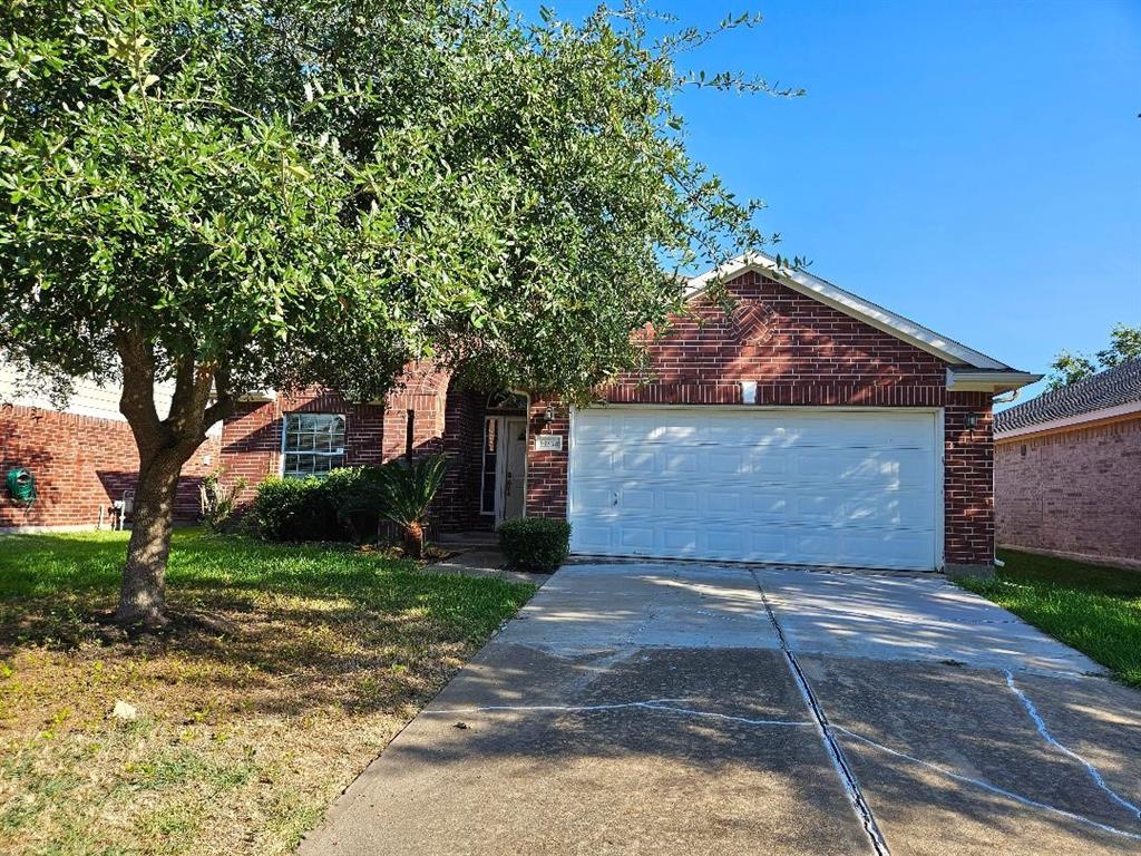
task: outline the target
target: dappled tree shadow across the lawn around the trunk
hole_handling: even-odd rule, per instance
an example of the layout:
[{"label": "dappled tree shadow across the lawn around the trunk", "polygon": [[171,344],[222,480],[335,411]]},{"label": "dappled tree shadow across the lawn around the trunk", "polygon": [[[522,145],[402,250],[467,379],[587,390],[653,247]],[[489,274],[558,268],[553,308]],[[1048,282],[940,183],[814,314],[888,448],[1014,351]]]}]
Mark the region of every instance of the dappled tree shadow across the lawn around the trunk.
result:
[{"label": "dappled tree shadow across the lawn around the trunk", "polygon": [[[0,573],[16,560],[3,548]],[[38,648],[75,668],[138,667],[140,684],[178,684],[176,708],[195,694],[283,716],[420,703],[532,591],[374,554],[185,532],[168,575],[170,627],[131,637],[110,623],[121,539],[37,536],[19,548],[18,562],[44,573],[9,581],[0,598],[0,659]]]}]

